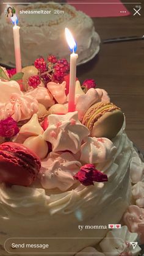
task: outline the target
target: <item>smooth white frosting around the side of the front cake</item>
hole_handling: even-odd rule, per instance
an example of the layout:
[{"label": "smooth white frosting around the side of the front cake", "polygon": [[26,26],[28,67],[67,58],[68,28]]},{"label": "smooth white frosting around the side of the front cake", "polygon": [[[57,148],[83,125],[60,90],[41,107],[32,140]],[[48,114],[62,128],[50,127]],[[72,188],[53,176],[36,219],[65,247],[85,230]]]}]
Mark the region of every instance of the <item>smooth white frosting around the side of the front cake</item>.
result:
[{"label": "smooth white frosting around the side of the front cake", "polygon": [[[92,239],[53,240],[51,250],[78,252],[98,243],[109,229],[85,229],[78,225],[108,225],[120,222],[131,200],[129,165],[135,150],[123,130],[113,139],[117,153],[109,163],[98,169],[108,175],[109,181],[95,186],[79,185],[72,191],[46,195],[41,188],[0,186],[0,244],[10,237],[91,237]],[[137,155],[138,156],[138,155]],[[47,191],[48,192],[48,191]],[[97,238],[97,239],[96,239]],[[15,249],[16,252],[17,249]],[[0,251],[0,255],[4,255]],[[18,255],[18,254],[16,254]],[[21,254],[23,255],[23,254]]]}]

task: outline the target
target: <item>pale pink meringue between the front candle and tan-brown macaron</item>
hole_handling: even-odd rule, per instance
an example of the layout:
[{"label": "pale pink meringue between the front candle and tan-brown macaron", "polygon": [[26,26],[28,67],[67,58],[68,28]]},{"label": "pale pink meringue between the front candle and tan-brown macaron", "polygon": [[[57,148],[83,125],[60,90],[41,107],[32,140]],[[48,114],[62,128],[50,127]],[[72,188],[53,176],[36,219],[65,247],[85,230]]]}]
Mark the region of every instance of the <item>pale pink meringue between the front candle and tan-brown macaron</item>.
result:
[{"label": "pale pink meringue between the front candle and tan-brown macaron", "polygon": [[82,120],[88,108],[99,101],[101,101],[101,97],[94,88],[89,89],[85,94],[79,95],[76,98],[76,111],[78,111],[79,120]]}]

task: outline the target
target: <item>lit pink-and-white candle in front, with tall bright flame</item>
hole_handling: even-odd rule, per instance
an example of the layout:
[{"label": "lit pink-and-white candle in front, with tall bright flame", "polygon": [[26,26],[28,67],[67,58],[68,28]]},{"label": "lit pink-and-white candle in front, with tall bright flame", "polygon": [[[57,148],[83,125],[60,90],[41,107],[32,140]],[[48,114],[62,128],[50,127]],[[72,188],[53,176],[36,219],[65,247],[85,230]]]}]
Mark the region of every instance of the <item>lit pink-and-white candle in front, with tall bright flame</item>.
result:
[{"label": "lit pink-and-white candle in front, with tall bright flame", "polygon": [[71,50],[70,55],[70,86],[69,86],[69,97],[68,97],[68,112],[75,111],[75,90],[76,90],[76,60],[78,54],[76,54],[77,45],[74,41],[73,35],[69,29],[65,28],[65,36],[68,42],[68,45]]}]

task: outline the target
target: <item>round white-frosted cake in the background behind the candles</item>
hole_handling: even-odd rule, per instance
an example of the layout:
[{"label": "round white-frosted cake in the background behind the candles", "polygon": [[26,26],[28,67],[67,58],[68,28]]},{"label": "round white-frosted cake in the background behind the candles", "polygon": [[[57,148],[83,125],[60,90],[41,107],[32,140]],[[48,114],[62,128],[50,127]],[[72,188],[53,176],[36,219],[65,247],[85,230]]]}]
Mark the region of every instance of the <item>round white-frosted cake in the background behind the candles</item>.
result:
[{"label": "round white-frosted cake in the background behind the candles", "polygon": [[[24,67],[33,64],[36,57],[46,57],[48,53],[68,59],[69,50],[63,40],[63,31],[67,26],[76,35],[79,45],[78,63],[92,58],[99,51],[100,39],[92,19],[69,4],[51,2],[16,5],[16,15],[19,18],[21,57]],[[0,62],[15,67],[12,24],[5,21],[4,13],[0,19],[0,34],[4,35],[0,38]]]}]

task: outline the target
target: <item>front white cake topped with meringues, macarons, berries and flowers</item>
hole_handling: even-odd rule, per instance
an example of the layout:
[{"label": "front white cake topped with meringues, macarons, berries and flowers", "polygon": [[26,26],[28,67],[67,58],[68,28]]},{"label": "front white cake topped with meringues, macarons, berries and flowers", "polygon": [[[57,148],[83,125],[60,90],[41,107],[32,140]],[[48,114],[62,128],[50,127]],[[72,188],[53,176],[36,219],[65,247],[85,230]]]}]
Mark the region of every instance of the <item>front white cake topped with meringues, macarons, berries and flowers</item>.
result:
[{"label": "front white cake topped with meringues, macarons, berries and flowers", "polygon": [[54,238],[46,255],[139,255],[144,164],[95,81],[76,81],[68,112],[68,70],[55,56],[21,79],[1,67],[0,255],[27,252],[10,238]]}]

